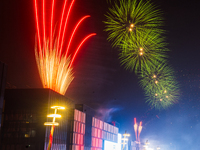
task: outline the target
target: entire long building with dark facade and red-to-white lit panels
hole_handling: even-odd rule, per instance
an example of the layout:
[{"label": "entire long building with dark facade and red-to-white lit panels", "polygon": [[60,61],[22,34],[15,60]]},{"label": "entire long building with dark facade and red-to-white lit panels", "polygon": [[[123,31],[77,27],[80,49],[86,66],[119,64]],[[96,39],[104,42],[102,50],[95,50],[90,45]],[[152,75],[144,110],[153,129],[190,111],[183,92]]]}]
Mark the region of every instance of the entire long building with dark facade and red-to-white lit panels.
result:
[{"label": "entire long building with dark facade and red-to-white lit panels", "polygon": [[50,89],[6,89],[3,110],[2,150],[43,150],[49,143],[52,114],[51,106],[64,106],[58,110],[62,118],[53,134],[53,150],[104,150],[104,141],[117,142],[118,128],[95,118],[95,110],[74,104]]}]

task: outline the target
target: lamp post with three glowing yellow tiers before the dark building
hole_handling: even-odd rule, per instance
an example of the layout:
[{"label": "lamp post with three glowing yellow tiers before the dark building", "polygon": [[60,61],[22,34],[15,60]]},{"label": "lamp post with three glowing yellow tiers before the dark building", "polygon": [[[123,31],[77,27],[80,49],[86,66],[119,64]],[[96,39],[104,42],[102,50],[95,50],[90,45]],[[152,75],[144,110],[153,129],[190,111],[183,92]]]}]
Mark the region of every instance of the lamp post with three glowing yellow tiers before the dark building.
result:
[{"label": "lamp post with three glowing yellow tiers before the dark building", "polygon": [[51,108],[55,109],[54,114],[49,114],[49,115],[47,115],[47,117],[53,118],[53,121],[44,123],[45,126],[51,126],[51,131],[50,131],[50,135],[49,135],[49,144],[48,144],[47,150],[50,150],[51,146],[52,146],[54,128],[55,128],[55,126],[59,125],[58,122],[55,122],[56,118],[61,118],[61,115],[57,114],[57,110],[65,109],[65,107],[62,107],[62,106],[52,106]]}]

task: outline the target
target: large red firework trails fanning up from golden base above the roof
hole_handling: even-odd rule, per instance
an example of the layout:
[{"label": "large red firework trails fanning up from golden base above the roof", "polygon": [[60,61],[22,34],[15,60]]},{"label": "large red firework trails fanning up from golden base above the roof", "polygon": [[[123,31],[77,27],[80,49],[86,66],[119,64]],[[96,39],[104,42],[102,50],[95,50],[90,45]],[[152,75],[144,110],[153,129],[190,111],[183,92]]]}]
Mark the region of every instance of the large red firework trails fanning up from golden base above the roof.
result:
[{"label": "large red firework trails fanning up from golden base above the roof", "polygon": [[[50,88],[62,95],[67,91],[73,80],[72,66],[81,46],[96,33],[85,36],[70,53],[69,49],[81,23],[90,16],[82,17],[68,35],[69,41],[65,41],[68,19],[75,0],[63,3],[58,29],[56,29],[55,5],[56,0],[34,0],[37,37],[35,44],[36,62],[44,88]],[[69,3],[69,5],[68,5]],[[47,8],[46,8],[47,7]],[[42,13],[42,14],[41,14]],[[68,31],[68,30],[67,30]],[[71,31],[70,31],[71,32]],[[65,45],[65,43],[67,43]],[[71,57],[70,57],[71,56]]]}]

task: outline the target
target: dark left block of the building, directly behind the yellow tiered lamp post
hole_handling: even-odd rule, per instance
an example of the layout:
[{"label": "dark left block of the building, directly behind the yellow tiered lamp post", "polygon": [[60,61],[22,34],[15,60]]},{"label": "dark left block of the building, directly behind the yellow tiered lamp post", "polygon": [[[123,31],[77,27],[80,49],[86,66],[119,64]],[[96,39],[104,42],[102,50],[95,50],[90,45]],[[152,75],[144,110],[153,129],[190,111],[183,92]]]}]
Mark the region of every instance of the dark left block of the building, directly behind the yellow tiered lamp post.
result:
[{"label": "dark left block of the building, directly behind the yellow tiered lamp post", "polygon": [[[0,149],[46,150],[50,127],[44,122],[52,121],[47,114],[54,113],[53,105],[67,108],[72,102],[50,89],[6,89]],[[62,118],[54,131],[52,149],[61,150],[66,149],[67,113],[58,113]]]}]

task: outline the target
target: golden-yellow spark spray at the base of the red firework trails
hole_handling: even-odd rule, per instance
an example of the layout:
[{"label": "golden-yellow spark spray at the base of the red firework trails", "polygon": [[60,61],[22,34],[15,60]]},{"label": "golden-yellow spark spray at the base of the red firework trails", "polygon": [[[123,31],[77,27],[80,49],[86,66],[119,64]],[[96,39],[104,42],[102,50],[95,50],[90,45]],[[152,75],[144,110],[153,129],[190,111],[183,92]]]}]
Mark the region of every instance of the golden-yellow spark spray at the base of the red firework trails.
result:
[{"label": "golden-yellow spark spray at the base of the red firework trails", "polygon": [[[40,56],[43,55],[41,59]],[[74,79],[72,68],[68,68],[70,58],[56,56],[56,46],[52,51],[46,46],[46,53],[38,53],[35,48],[36,62],[44,88],[50,88],[62,95],[65,94]]]}]

